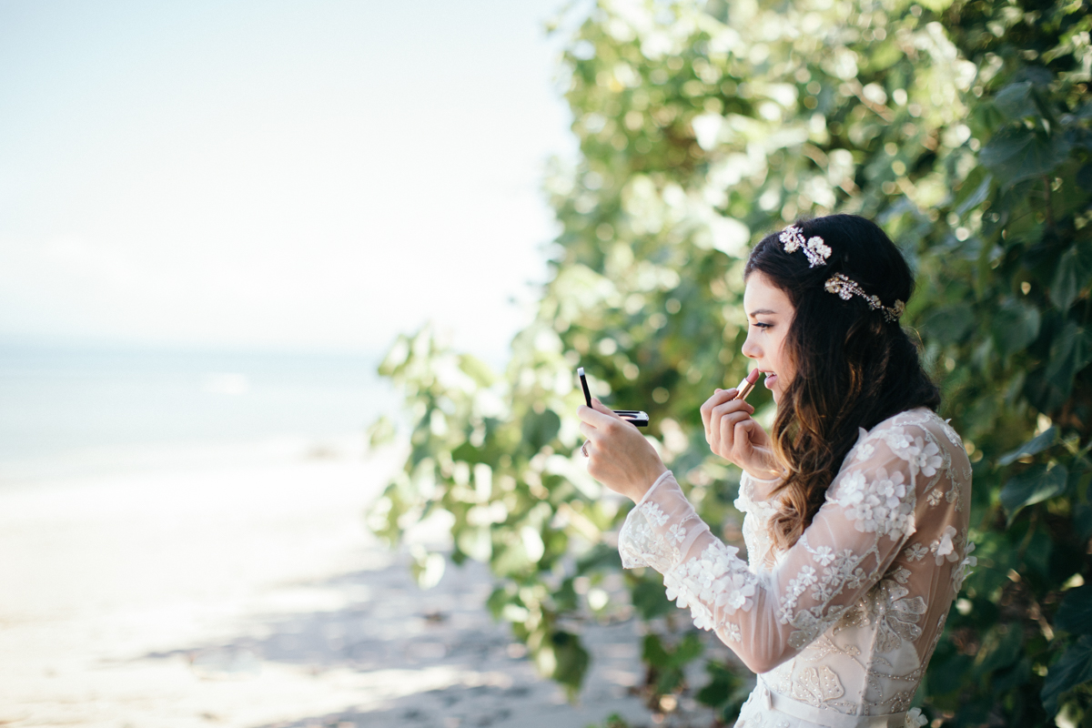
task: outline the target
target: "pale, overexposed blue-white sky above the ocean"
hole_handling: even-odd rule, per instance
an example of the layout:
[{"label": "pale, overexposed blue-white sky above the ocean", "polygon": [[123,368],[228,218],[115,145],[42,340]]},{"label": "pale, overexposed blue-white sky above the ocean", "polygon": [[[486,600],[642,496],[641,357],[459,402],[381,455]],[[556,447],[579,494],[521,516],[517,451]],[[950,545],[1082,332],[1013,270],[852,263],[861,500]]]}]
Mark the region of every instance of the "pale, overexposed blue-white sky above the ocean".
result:
[{"label": "pale, overexposed blue-white sky above the ocean", "polygon": [[0,342],[376,353],[432,321],[501,359],[574,155],[561,4],[0,0]]}]

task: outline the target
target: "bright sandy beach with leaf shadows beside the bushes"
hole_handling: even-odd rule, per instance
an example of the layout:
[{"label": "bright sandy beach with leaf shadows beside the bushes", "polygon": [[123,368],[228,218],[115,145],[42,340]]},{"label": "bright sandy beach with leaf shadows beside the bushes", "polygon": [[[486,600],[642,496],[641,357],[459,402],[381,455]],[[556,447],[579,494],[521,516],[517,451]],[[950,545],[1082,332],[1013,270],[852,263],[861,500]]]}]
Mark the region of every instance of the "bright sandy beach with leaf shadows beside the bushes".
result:
[{"label": "bright sandy beach with leaf shadows beside the bushes", "polygon": [[328,453],[0,488],[0,726],[651,723],[627,691],[632,622],[590,625],[570,705],[485,611],[485,566],[417,587],[361,517],[396,465]]}]

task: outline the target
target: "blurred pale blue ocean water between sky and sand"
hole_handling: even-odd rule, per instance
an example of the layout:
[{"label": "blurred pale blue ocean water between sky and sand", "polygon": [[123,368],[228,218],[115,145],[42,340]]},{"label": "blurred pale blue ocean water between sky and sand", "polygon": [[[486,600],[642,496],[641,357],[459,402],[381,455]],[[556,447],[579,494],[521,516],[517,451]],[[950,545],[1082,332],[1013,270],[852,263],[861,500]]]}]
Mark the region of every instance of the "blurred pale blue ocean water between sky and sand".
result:
[{"label": "blurred pale blue ocean water between sky and sand", "polygon": [[363,452],[378,359],[0,344],[0,486]]}]

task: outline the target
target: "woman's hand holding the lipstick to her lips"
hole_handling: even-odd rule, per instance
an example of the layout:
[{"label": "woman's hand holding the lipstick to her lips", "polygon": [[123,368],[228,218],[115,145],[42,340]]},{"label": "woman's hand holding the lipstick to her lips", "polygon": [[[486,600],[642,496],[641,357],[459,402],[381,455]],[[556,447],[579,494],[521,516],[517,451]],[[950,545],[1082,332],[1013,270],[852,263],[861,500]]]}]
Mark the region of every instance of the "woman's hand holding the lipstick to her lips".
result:
[{"label": "woman's hand holding the lipstick to her lips", "polygon": [[782,468],[773,455],[770,437],[751,419],[755,408],[736,399],[736,390],[716,390],[701,406],[705,442],[724,460],[735,463],[760,480],[780,478]]}]

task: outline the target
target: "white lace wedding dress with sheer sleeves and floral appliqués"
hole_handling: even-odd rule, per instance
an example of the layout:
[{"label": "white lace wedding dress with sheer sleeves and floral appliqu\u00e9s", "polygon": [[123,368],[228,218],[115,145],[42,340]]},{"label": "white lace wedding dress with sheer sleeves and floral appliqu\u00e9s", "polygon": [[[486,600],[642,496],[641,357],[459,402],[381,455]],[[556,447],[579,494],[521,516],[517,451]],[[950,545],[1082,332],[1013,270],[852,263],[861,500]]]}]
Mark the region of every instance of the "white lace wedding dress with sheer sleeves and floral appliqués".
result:
[{"label": "white lace wedding dress with sheer sleeves and floral appliqu\u00e9s", "polygon": [[622,564],[661,572],[695,624],[759,673],[736,728],[924,725],[907,708],[975,563],[959,435],[925,408],[862,429],[787,551],[767,532],[776,484],[740,481],[748,564],[665,473],[626,518]]}]

